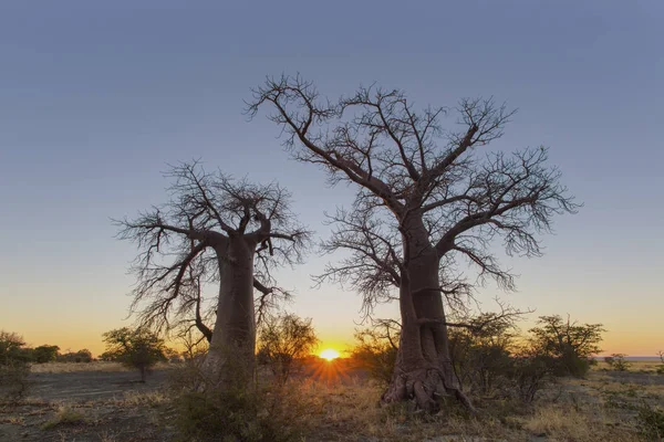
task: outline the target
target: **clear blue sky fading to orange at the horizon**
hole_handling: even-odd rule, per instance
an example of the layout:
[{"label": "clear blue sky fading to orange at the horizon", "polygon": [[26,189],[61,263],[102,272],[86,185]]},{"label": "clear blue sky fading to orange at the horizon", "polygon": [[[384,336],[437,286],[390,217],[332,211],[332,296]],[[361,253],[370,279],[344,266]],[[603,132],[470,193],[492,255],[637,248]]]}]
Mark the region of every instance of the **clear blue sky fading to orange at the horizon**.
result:
[{"label": "clear blue sky fading to orange at the horizon", "polygon": [[[519,108],[496,148],[551,148],[585,207],[546,256],[510,260],[531,315],[603,323],[608,352],[664,349],[664,2],[17,1],[0,4],[0,328],[103,350],[128,324],[136,251],[110,218],[164,201],[166,164],[203,158],[278,180],[302,222],[352,189],[288,159],[248,122],[266,75],[300,72],[336,98],[374,81],[417,104],[494,95]],[[324,344],[352,344],[361,299],[311,288],[326,257],[281,274]],[[479,299],[490,308],[489,285]],[[396,306],[382,314],[395,314]]]}]

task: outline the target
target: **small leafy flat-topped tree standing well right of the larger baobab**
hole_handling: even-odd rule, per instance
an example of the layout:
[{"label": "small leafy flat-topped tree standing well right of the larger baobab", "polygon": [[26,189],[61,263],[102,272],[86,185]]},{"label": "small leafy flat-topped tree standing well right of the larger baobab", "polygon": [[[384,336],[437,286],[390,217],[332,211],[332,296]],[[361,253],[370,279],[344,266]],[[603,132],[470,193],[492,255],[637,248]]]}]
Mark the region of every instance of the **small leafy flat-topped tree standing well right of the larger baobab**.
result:
[{"label": "small leafy flat-topped tree standing well right of the larger baobab", "polygon": [[560,315],[540,316],[538,327],[531,328],[531,344],[541,356],[549,357],[557,376],[582,377],[594,362],[593,355],[605,332],[602,324],[577,324]]}]

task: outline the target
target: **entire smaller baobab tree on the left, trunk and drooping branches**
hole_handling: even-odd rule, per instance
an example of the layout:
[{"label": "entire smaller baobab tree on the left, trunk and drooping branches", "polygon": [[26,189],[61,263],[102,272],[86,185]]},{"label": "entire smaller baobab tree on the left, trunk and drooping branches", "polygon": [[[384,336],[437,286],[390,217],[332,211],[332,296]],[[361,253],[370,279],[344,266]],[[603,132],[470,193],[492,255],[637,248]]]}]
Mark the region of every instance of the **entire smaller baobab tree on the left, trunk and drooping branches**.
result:
[{"label": "entire smaller baobab tree on the left, trunk and drooping branches", "polygon": [[[277,185],[235,181],[197,162],[173,167],[167,177],[173,180],[167,203],[117,221],[120,238],[137,242],[141,251],[133,309],[143,325],[196,326],[210,344],[204,371],[212,385],[247,380],[255,365],[257,313],[278,292],[270,270],[299,261],[309,233]],[[207,315],[206,282],[218,284]]]}]

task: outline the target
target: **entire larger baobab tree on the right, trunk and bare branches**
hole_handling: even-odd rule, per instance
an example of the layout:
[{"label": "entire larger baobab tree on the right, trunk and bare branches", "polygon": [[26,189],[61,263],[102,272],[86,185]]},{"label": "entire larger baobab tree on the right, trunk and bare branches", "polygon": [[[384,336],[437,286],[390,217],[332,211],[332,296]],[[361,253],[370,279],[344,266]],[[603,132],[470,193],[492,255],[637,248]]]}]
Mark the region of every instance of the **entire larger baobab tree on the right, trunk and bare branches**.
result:
[{"label": "entire larger baobab tree on the right, trunk and bare branches", "polygon": [[[537,234],[553,215],[577,210],[559,170],[547,166],[547,149],[488,150],[513,114],[492,99],[460,101],[459,130],[442,125],[452,109],[417,112],[401,91],[360,87],[331,102],[300,76],[268,78],[248,113],[262,106],[293,158],[321,166],[332,185],[357,188],[352,209],[331,215],[335,229],[324,244],[350,257],[321,277],[350,284],[367,308],[398,299],[401,341],[383,401],[414,398],[433,410],[453,394],[473,408],[453,373],[446,307],[463,305],[486,277],[512,288],[492,253],[496,240],[509,254],[539,255]],[[479,281],[463,277],[463,261],[477,266]]]}]

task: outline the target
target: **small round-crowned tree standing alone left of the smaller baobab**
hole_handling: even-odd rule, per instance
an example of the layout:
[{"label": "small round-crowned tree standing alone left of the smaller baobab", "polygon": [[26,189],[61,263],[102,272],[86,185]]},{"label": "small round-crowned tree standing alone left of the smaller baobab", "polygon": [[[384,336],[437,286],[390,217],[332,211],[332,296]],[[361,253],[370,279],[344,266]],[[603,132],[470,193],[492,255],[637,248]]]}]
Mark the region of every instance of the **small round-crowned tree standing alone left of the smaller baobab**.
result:
[{"label": "small round-crowned tree standing alone left of the smaller baobab", "polygon": [[103,334],[106,343],[105,358],[117,360],[127,367],[141,371],[141,381],[155,364],[166,360],[164,339],[145,329],[128,327],[118,328]]}]

